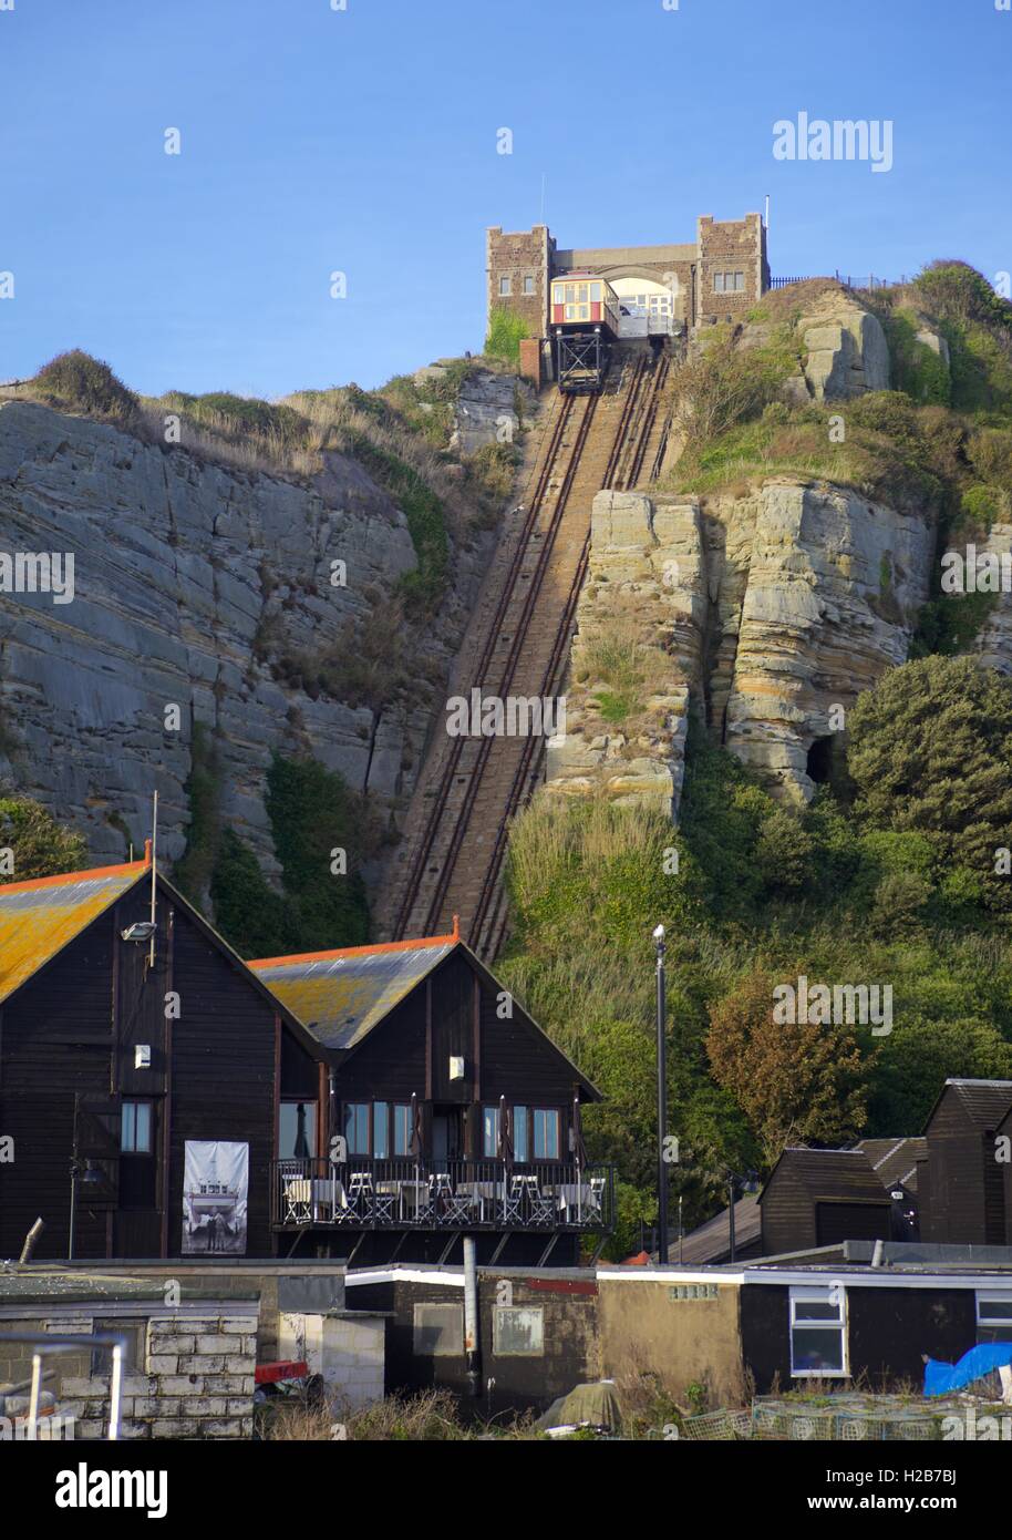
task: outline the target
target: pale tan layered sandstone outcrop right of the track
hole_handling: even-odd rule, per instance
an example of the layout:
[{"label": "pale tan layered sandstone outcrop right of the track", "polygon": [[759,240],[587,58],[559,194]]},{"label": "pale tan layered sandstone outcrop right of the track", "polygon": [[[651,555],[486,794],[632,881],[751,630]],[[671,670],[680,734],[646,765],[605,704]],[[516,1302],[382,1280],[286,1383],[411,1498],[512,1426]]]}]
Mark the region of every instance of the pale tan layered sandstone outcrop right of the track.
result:
[{"label": "pale tan layered sandstone outcrop right of the track", "polygon": [[[564,742],[549,750],[549,788],[677,812],[695,701],[712,735],[772,790],[807,799],[814,745],[844,730],[857,695],[906,659],[934,541],[926,517],[797,480],[704,502],[600,493],[575,699]],[[664,688],[644,701],[647,727],[635,739],[609,736],[608,696],[580,684],[581,647],[620,613],[635,618],[644,648],[667,653]]]}]

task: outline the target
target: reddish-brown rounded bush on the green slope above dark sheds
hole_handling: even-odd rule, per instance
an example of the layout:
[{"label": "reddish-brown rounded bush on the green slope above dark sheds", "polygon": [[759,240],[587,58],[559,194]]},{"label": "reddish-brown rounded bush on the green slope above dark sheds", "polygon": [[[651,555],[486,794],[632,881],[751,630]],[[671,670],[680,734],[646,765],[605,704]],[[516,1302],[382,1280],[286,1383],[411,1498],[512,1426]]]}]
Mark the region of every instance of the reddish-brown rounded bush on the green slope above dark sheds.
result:
[{"label": "reddish-brown rounded bush on the green slope above dark sheds", "polygon": [[[794,970],[794,978],[803,970]],[[792,976],[784,972],[784,979]],[[774,1021],[783,979],[755,970],[711,1007],[706,1052],[769,1160],[789,1141],[837,1144],[864,1127],[861,1055],[847,1027]]]}]

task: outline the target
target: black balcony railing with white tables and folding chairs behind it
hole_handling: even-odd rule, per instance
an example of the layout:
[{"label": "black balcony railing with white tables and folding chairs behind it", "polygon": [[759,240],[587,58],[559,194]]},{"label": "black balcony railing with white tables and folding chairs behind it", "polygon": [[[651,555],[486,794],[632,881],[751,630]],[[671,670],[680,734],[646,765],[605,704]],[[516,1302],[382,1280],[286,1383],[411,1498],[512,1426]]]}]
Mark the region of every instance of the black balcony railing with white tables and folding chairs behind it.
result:
[{"label": "black balcony railing with white tables and folding chairs behind it", "polygon": [[615,1224],[612,1166],[409,1158],[341,1164],[301,1158],[274,1163],[271,1221],[277,1229],[351,1230],[584,1230]]}]

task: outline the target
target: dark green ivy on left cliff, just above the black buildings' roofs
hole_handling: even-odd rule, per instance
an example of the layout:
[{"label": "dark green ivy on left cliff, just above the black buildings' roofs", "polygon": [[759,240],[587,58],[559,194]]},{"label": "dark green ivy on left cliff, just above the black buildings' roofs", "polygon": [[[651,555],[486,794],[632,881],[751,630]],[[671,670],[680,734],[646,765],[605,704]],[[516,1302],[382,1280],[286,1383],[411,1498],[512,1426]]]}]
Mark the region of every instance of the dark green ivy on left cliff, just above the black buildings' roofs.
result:
[{"label": "dark green ivy on left cliff, just above the black buildings' roofs", "polygon": [[281,864],[281,889],[263,875],[252,849],[221,818],[221,772],[206,730],[194,735],[188,782],[191,829],[175,882],[198,907],[208,902],[240,956],[318,952],[368,941],[361,864],[378,845],[365,799],[311,758],[275,755],[265,805]]}]

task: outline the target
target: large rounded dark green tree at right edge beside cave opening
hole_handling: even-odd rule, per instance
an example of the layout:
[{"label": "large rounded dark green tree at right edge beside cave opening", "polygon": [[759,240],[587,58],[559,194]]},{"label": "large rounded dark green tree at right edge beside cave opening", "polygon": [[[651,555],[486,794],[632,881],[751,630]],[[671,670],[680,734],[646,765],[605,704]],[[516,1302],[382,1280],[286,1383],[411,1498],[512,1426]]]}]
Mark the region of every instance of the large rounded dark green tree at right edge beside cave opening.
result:
[{"label": "large rounded dark green tree at right edge beside cave opening", "polygon": [[921,658],[887,673],[851,711],[847,767],[867,825],[927,835],[986,902],[1012,907],[997,852],[1012,845],[1012,684],[972,658]]}]

